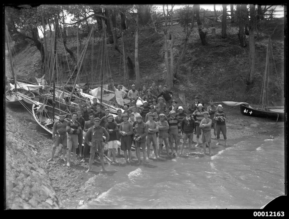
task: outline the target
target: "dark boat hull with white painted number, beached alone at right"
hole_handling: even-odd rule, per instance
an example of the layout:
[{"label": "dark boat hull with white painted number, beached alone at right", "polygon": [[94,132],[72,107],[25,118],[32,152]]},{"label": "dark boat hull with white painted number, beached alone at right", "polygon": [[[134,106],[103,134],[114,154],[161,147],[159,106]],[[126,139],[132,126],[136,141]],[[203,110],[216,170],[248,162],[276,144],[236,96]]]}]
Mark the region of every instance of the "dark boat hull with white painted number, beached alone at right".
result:
[{"label": "dark boat hull with white painted number, beached alone at right", "polygon": [[251,107],[248,107],[248,106],[246,106],[244,104],[240,105],[240,111],[245,116],[284,119],[284,113],[268,112],[268,111],[265,111],[265,110],[257,110],[257,109],[253,109]]}]

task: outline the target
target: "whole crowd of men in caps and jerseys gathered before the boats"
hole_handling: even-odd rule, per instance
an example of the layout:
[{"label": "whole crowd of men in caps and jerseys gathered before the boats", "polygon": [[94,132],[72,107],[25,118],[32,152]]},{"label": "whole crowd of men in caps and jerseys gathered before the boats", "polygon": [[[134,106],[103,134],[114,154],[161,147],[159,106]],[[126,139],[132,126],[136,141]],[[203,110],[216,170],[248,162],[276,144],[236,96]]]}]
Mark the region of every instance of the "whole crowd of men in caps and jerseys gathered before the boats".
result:
[{"label": "whole crowd of men in caps and jerseys gathered before the boats", "polygon": [[[190,151],[194,134],[197,135],[195,146],[203,146],[203,153],[205,153],[206,145],[208,145],[209,154],[211,154],[211,128],[214,129],[217,144],[220,144],[222,132],[226,145],[226,114],[222,105],[216,107],[212,100],[209,101],[207,111],[205,111],[203,103],[199,102],[198,96],[195,96],[195,102],[188,104],[184,109],[183,106],[177,106],[177,101],[172,99],[173,93],[167,90],[167,86],[164,86],[160,92],[155,82],[152,83],[150,89],[146,90],[144,87],[140,92],[132,85],[127,97],[130,99],[130,107],[123,106],[124,112],[118,109],[116,116],[110,114],[109,109],[103,109],[97,103],[96,98],[90,107],[84,106],[82,110],[78,109],[72,113],[70,121],[66,121],[65,115],[60,114],[59,120],[53,125],[54,144],[49,161],[53,159],[56,147],[62,143],[64,161],[66,147],[68,149],[67,166],[70,166],[71,150],[73,150],[73,163],[76,164],[76,149],[79,147],[79,155],[84,158],[90,148],[87,172],[92,170],[96,152],[105,170],[103,157],[106,144],[109,149],[108,158],[112,154],[113,162],[116,162],[116,149],[118,149],[118,155],[121,149],[124,151],[125,161],[129,163],[131,162],[131,147],[134,144],[138,164],[140,164],[140,152],[142,151],[143,163],[145,163],[150,156],[151,144],[153,144],[155,158],[159,158],[164,145],[168,156],[177,155],[179,145],[180,154],[183,154],[187,140]],[[139,97],[143,100],[142,106],[136,105]],[[120,99],[119,101],[121,102]],[[86,132],[83,150],[82,131]],[[182,143],[180,143],[181,136]],[[199,140],[200,136],[201,140]],[[118,141],[120,141],[120,147]],[[169,153],[169,148],[171,153]],[[81,162],[84,161],[84,159],[81,160]]]}]

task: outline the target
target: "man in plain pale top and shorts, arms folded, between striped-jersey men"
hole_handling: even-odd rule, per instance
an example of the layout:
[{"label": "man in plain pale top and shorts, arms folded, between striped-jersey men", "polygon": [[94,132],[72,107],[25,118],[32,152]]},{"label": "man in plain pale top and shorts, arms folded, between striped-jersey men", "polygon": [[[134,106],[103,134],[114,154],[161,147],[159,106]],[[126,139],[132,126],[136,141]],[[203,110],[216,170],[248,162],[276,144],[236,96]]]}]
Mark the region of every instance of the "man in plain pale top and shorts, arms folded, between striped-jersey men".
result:
[{"label": "man in plain pale top and shorts, arms folded, between striped-jersey men", "polygon": [[209,144],[209,155],[211,155],[211,126],[212,119],[209,118],[209,112],[204,112],[204,118],[200,123],[202,129],[202,142],[203,142],[203,153],[206,153],[206,142]]}]

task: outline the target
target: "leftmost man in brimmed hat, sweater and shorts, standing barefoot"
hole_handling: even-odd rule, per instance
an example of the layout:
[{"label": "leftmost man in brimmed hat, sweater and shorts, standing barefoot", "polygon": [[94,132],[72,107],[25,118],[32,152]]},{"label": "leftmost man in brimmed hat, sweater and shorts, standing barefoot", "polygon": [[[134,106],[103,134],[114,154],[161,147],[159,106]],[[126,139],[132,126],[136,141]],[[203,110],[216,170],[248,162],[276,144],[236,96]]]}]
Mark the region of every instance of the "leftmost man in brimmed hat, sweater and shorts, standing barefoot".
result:
[{"label": "leftmost man in brimmed hat, sweater and shorts, standing barefoot", "polygon": [[51,158],[47,161],[53,160],[54,153],[56,150],[56,147],[59,146],[59,144],[62,144],[62,158],[65,162],[65,154],[66,154],[66,146],[67,146],[67,137],[66,137],[66,124],[67,121],[64,119],[64,112],[61,112],[59,115],[59,119],[53,124],[52,129],[52,140],[53,140],[53,148],[51,152]]}]

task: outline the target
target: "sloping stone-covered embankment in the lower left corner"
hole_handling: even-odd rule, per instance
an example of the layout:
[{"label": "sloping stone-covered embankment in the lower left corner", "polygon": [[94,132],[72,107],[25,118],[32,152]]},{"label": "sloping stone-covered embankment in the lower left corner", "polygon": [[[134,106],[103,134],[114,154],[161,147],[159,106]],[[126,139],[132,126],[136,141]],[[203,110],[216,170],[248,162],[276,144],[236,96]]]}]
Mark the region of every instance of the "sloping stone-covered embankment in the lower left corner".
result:
[{"label": "sloping stone-covered embankment in the lower left corner", "polygon": [[6,115],[6,209],[58,209],[61,202],[25,127]]}]

